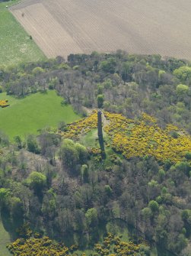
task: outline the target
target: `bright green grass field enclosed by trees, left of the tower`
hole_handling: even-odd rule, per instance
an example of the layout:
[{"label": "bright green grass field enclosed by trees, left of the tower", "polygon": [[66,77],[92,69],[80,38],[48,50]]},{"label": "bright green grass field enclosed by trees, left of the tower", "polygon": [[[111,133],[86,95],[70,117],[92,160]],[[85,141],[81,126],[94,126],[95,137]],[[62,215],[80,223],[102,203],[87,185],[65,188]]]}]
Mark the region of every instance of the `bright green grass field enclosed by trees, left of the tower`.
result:
[{"label": "bright green grass field enclosed by trees, left of the tower", "polygon": [[10,104],[7,108],[0,108],[0,130],[10,138],[37,134],[40,128],[56,128],[59,122],[74,122],[80,118],[71,105],[61,105],[62,97],[55,91],[37,92],[24,99],[15,99],[3,92],[0,99],[8,99]]}]

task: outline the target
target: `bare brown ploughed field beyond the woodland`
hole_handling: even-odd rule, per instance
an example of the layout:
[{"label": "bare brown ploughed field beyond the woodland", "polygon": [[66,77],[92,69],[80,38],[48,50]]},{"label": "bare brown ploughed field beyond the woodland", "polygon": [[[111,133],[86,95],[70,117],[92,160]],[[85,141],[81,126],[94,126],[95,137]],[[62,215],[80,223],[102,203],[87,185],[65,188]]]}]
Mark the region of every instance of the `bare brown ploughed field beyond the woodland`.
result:
[{"label": "bare brown ploughed field beyond the woodland", "polygon": [[123,49],[191,60],[190,0],[25,0],[11,12],[47,57]]}]

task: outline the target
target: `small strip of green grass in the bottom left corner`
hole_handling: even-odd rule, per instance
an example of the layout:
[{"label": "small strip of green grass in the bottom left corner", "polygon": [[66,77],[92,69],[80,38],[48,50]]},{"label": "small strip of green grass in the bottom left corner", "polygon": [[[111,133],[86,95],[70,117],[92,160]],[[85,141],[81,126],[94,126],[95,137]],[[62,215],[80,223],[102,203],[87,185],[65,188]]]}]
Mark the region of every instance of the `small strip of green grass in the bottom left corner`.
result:
[{"label": "small strip of green grass in the bottom left corner", "polygon": [[5,231],[2,221],[0,220],[0,256],[11,256],[6,245],[11,242],[8,232]]}]

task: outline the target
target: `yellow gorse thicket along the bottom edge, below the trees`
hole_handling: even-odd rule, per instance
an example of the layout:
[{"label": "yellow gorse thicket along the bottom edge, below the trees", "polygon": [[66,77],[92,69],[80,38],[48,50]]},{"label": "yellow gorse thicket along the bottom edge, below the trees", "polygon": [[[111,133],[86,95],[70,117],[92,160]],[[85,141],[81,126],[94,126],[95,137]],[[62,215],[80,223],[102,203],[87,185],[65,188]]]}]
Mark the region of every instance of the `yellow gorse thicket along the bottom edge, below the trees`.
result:
[{"label": "yellow gorse thicket along the bottom edge, below the trees", "polygon": [[50,240],[49,237],[43,238],[19,238],[11,245],[8,245],[8,250],[14,256],[85,256],[85,255],[102,255],[102,256],[137,256],[140,245],[135,245],[132,241],[121,241],[119,236],[108,233],[107,237],[103,238],[102,244],[94,245],[91,254],[74,253],[78,249],[78,245],[72,245],[70,248],[62,243]]}]

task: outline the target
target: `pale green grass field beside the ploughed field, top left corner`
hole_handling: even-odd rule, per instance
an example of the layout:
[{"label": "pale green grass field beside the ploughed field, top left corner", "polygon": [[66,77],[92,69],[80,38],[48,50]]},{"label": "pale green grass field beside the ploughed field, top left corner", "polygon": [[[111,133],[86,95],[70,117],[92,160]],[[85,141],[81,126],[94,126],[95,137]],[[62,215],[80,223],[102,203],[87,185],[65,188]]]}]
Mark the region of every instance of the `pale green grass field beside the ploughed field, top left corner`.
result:
[{"label": "pale green grass field beside the ploughed field, top left corner", "polygon": [[17,2],[14,0],[0,3],[0,66],[46,59],[37,44],[6,8],[6,5]]}]

